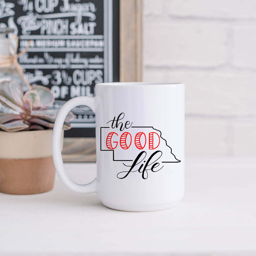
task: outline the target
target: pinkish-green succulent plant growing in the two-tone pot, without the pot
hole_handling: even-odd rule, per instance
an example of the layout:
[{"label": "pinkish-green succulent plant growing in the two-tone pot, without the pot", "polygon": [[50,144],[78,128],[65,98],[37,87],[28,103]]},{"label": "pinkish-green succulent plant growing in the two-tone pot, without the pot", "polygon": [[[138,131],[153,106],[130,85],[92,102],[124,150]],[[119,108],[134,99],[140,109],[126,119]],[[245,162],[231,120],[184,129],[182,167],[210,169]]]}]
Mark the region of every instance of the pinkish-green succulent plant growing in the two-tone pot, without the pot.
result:
[{"label": "pinkish-green succulent plant growing in the two-tone pot, without the pot", "polygon": [[[47,108],[53,102],[54,96],[47,87],[34,85],[31,90],[23,93],[20,84],[14,81],[2,81],[0,104],[8,111],[0,113],[0,129],[14,132],[53,128],[58,109]],[[68,113],[64,130],[71,128],[68,121],[73,118],[73,113]]]}]

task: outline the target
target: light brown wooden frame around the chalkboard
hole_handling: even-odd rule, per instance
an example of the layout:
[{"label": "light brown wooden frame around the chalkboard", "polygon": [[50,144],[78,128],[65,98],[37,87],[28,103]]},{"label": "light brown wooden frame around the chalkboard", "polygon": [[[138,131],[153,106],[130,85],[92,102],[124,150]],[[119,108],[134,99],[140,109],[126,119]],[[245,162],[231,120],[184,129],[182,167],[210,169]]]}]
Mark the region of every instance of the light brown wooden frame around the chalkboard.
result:
[{"label": "light brown wooden frame around the chalkboard", "polygon": [[[120,0],[120,81],[142,81],[143,0]],[[64,138],[64,162],[95,162],[95,138]]]}]

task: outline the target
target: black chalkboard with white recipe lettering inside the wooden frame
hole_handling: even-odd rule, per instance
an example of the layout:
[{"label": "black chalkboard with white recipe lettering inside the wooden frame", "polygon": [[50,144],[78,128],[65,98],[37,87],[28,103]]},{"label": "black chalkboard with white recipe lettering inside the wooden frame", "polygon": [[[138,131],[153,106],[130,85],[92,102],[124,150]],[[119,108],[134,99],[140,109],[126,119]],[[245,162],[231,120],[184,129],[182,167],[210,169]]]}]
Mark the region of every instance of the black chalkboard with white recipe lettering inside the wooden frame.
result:
[{"label": "black chalkboard with white recipe lettering inside the wooden frame", "polygon": [[[93,96],[99,82],[119,81],[119,0],[1,0],[0,27],[19,35],[19,58],[31,84],[49,87],[53,108]],[[73,109],[65,137],[95,137],[90,108]]]}]

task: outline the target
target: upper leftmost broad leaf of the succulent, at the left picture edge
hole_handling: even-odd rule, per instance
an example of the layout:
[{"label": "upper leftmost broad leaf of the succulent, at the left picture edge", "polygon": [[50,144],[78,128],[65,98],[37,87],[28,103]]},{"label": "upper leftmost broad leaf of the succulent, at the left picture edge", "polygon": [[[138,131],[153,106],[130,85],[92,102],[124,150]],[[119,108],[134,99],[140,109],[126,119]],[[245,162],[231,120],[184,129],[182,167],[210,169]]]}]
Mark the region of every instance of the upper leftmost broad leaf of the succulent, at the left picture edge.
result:
[{"label": "upper leftmost broad leaf of the succulent, at the left picture edge", "polygon": [[21,108],[23,107],[23,91],[20,84],[14,81],[4,80],[0,83],[0,94],[13,104]]}]

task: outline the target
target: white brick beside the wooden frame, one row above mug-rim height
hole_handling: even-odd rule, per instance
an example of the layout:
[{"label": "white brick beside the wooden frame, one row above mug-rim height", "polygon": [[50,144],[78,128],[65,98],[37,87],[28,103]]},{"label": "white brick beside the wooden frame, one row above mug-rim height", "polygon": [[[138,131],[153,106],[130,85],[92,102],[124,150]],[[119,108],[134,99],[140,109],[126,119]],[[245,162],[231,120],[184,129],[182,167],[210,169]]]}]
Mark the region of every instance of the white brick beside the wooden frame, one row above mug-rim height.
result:
[{"label": "white brick beside the wooden frame, one row above mug-rim height", "polygon": [[227,62],[226,42],[226,26],[149,19],[145,23],[145,64],[218,67]]}]

